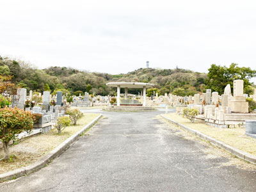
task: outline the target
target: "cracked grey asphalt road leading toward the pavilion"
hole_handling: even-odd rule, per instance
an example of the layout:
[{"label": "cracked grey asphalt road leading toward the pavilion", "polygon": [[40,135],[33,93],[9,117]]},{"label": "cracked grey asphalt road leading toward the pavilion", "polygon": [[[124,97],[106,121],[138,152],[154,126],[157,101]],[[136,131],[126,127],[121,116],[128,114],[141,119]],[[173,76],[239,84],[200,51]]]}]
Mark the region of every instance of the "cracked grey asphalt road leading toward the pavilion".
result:
[{"label": "cracked grey asphalt road leading toward the pavilion", "polygon": [[211,146],[180,136],[159,113],[104,112],[49,166],[0,191],[256,191],[255,168],[220,166],[230,159],[209,158]]}]

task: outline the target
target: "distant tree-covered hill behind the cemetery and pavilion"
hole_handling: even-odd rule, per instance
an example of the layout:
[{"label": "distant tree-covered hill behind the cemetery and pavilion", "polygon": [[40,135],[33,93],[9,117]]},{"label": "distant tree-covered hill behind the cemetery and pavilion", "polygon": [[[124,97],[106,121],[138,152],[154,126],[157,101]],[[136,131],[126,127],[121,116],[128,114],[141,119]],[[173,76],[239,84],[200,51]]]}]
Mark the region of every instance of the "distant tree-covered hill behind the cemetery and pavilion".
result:
[{"label": "distant tree-covered hill behind the cemetery and pavilion", "polygon": [[[1,56],[0,73],[12,75],[12,81],[17,86],[36,92],[43,92],[50,88],[52,92],[54,90],[67,90],[70,93],[82,91],[94,92],[99,95],[114,95],[116,93],[114,88],[106,86],[109,81],[153,83],[162,95],[172,92],[179,92],[181,95],[193,95],[197,92],[204,92],[205,79],[207,79],[207,74],[182,68],[139,68],[127,74],[116,75],[86,72],[67,67],[49,67],[40,70],[24,61],[1,58]],[[140,91],[129,90],[130,93]]]}]

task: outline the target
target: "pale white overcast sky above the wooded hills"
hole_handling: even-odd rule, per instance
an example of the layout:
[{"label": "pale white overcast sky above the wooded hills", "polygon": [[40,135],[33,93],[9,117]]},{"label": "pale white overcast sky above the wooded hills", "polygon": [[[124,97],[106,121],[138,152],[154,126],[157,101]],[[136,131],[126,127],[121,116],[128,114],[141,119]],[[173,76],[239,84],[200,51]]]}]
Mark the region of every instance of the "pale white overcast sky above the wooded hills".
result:
[{"label": "pale white overcast sky above the wooded hills", "polygon": [[38,68],[256,69],[256,1],[0,1],[0,55]]}]

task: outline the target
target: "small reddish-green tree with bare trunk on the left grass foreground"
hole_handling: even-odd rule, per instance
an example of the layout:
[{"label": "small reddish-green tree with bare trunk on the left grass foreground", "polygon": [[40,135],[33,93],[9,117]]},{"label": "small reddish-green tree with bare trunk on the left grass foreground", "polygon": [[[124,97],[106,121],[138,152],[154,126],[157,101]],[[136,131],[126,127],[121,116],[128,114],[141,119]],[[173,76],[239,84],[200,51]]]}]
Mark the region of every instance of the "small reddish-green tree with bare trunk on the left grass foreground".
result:
[{"label": "small reddish-green tree with bare trunk on the left grass foreground", "polygon": [[16,135],[22,131],[33,129],[33,116],[30,111],[18,108],[0,109],[0,140],[3,142],[4,157],[10,159],[9,145],[11,140],[16,140]]}]

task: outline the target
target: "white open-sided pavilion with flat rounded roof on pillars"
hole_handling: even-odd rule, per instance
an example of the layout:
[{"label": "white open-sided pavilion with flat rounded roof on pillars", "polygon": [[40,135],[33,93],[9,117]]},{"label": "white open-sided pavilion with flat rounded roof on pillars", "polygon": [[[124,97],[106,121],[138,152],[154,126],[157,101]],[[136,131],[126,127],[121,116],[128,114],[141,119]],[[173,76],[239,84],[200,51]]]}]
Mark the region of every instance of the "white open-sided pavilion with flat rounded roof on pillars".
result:
[{"label": "white open-sided pavilion with flat rounded roof on pillars", "polygon": [[124,88],[125,90],[125,93],[124,93],[125,99],[127,99],[128,88],[142,88],[144,107],[146,106],[146,89],[154,86],[154,84],[151,84],[151,83],[139,83],[139,82],[109,82],[106,85],[117,88],[116,106],[120,106],[120,89],[121,88]]}]

